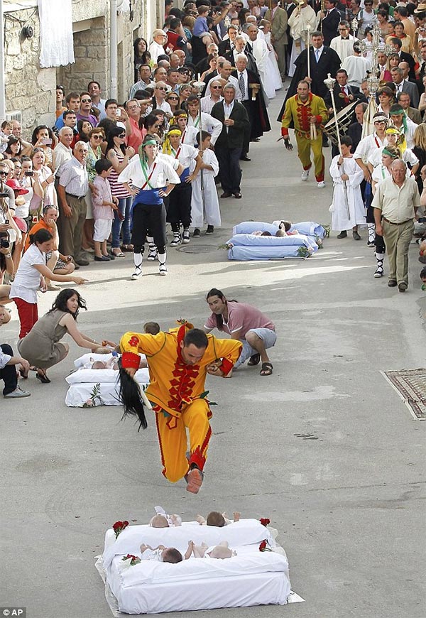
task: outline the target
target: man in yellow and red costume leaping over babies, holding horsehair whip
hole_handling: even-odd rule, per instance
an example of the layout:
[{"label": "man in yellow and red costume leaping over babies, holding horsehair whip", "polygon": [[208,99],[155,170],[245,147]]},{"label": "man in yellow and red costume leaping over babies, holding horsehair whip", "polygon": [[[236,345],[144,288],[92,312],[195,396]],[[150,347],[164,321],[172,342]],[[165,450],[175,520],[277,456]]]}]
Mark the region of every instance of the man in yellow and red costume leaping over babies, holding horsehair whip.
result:
[{"label": "man in yellow and red costume leaping over babies, holding horsehair whip", "polygon": [[[148,361],[150,383],[145,395],[155,412],[163,475],[173,483],[185,477],[187,491],[197,494],[212,435],[209,424],[212,412],[205,399],[204,382],[207,374],[229,374],[241,353],[241,342],[217,339],[185,322],[158,335],[126,332],[121,337],[120,347],[124,414],[136,414],[143,428],[146,427],[143,408],[140,411],[138,402],[133,406],[135,388],[138,388],[133,376],[139,367],[141,352],[146,354]],[[140,398],[140,392],[136,393]],[[189,458],[186,428],[190,434]]]}]

